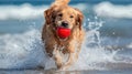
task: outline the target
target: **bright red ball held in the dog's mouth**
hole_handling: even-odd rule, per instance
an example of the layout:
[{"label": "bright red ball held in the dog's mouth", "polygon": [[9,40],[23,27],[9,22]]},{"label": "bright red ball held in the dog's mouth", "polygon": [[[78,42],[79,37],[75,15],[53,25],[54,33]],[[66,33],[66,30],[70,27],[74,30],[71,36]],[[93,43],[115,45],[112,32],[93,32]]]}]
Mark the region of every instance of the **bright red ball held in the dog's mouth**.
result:
[{"label": "bright red ball held in the dog's mouth", "polygon": [[58,35],[61,39],[68,38],[68,36],[70,35],[70,29],[57,28],[57,35]]}]

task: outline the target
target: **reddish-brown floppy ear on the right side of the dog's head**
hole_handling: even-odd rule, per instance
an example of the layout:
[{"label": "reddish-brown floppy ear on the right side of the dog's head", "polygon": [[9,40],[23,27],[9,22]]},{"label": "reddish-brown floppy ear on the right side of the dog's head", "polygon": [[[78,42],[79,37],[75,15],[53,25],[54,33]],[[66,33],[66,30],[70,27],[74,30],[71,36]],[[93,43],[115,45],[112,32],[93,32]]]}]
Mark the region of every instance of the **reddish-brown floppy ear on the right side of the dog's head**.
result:
[{"label": "reddish-brown floppy ear on the right side of the dog's head", "polygon": [[77,25],[79,25],[79,29],[81,30],[81,27],[82,27],[82,20],[84,20],[84,14],[81,11],[79,11],[79,9],[76,9],[75,10],[77,11]]}]

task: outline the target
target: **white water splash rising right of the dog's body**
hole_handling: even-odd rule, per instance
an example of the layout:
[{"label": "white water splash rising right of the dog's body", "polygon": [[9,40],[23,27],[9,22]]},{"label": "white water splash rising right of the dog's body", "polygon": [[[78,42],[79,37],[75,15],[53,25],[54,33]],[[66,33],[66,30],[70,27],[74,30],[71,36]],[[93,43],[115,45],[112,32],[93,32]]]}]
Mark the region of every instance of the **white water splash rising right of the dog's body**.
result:
[{"label": "white water splash rising right of the dog's body", "polygon": [[[106,63],[114,62],[114,56],[118,51],[108,51],[100,38],[100,28],[103,25],[103,21],[95,17],[94,20],[88,19],[88,24],[85,25],[86,39],[81,47],[79,60],[74,65],[75,70],[107,70]],[[103,63],[103,64],[102,64]],[[74,68],[72,67],[72,68]],[[70,68],[70,70],[72,70]]]}]

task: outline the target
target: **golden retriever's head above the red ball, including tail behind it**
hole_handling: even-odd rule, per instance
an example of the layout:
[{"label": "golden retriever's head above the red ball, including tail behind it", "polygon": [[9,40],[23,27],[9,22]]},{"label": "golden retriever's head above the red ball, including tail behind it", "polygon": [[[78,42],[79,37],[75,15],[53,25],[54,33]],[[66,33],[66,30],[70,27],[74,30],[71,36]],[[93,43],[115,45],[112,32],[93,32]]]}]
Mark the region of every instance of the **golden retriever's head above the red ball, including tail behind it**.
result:
[{"label": "golden retriever's head above the red ball, including tail behind it", "polygon": [[56,0],[55,3],[44,12],[47,24],[52,24],[55,28],[74,29],[74,27],[78,27],[81,29],[82,13],[78,9],[67,6],[68,1],[69,0]]}]

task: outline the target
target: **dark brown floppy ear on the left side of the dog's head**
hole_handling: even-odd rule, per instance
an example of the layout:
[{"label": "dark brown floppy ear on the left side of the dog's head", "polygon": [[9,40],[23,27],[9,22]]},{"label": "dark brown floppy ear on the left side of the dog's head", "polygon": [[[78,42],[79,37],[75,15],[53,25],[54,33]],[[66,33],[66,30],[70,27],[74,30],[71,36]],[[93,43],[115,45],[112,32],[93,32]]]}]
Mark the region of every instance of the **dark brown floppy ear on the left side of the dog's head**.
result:
[{"label": "dark brown floppy ear on the left side of the dog's head", "polygon": [[45,21],[46,24],[51,24],[54,22],[55,20],[55,11],[53,10],[54,8],[47,9],[44,11],[44,17],[45,17]]}]

